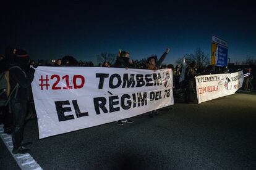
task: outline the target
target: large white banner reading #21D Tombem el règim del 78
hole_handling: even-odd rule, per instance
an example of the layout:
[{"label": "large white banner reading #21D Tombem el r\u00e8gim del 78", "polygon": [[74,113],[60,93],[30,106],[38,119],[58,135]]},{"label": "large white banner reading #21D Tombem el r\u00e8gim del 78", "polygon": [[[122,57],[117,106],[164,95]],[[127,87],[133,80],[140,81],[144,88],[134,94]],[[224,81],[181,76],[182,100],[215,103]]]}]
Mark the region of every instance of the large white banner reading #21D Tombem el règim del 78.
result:
[{"label": "large white banner reading #21D Tombem el r\u00e8gim del 78", "polygon": [[173,105],[173,73],[38,67],[32,82],[40,139]]}]

